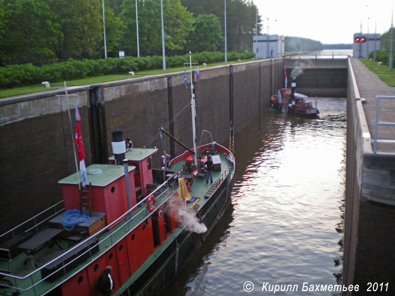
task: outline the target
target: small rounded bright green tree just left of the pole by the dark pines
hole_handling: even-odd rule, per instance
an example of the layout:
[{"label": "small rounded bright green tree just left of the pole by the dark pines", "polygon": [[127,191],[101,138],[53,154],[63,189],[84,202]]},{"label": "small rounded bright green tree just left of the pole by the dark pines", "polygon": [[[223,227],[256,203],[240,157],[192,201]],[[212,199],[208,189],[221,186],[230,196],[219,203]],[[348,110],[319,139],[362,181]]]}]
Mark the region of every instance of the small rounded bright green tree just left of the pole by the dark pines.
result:
[{"label": "small rounded bright green tree just left of the pole by the dark pines", "polygon": [[193,32],[189,38],[189,48],[195,52],[215,51],[222,44],[221,22],[213,14],[200,14],[195,19]]}]

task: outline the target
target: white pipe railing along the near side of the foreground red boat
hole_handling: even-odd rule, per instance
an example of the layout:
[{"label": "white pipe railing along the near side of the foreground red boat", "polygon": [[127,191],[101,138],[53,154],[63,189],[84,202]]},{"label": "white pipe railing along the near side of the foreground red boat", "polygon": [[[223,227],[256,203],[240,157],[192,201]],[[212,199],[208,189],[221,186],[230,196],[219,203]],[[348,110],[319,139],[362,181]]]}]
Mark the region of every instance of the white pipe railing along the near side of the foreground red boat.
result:
[{"label": "white pipe railing along the near side of the foreground red boat", "polygon": [[[163,192],[161,192],[162,190],[163,190]],[[19,290],[19,291],[27,291],[27,290],[30,290],[33,288],[34,295],[37,295],[36,289],[35,289],[35,287],[37,285],[39,285],[42,281],[48,279],[55,273],[59,272],[59,270],[61,270],[61,269],[63,269],[63,273],[64,273],[64,275],[66,275],[67,274],[67,266],[69,264],[72,264],[74,261],[79,260],[79,258],[81,258],[82,256],[86,256],[87,253],[89,255],[89,261],[87,263],[85,263],[84,266],[87,266],[89,263],[91,263],[91,261],[93,259],[92,249],[97,248],[97,244],[95,243],[95,241],[97,240],[98,236],[100,236],[104,232],[108,231],[108,235],[105,237],[100,237],[100,240],[98,242],[99,246],[105,244],[107,247],[107,245],[110,244],[110,247],[107,248],[107,250],[108,250],[108,249],[112,248],[116,243],[118,243],[118,241],[121,240],[125,235],[127,235],[128,233],[133,231],[135,228],[137,228],[141,224],[141,222],[144,222],[148,218],[150,218],[155,213],[155,211],[150,212],[150,211],[148,211],[146,206],[142,207],[142,205],[147,203],[147,200],[151,195],[154,195],[154,196],[158,195],[156,197],[156,200],[158,200],[157,208],[160,208],[166,201],[168,201],[177,192],[177,190],[178,190],[178,185],[177,186],[169,186],[167,181],[164,182],[163,184],[158,186],[157,189],[155,189],[153,192],[151,192],[149,195],[147,195],[144,199],[142,199],[139,203],[137,203],[135,206],[133,206],[130,210],[128,210],[126,213],[124,213],[122,216],[120,216],[117,220],[115,220],[114,222],[107,225],[105,228],[103,228],[100,231],[98,231],[97,233],[95,233],[94,236],[84,239],[80,243],[71,247],[69,250],[67,250],[62,255],[50,260],[49,262],[38,267],[37,269],[33,270],[32,272],[30,272],[27,275],[17,276],[17,275],[13,275],[13,274],[9,274],[9,273],[0,272],[0,277],[7,277],[7,278],[13,279],[13,284],[14,284],[13,287],[9,287],[7,285],[3,285],[3,286],[12,288],[15,290]],[[136,220],[137,220],[137,222],[136,222]],[[123,231],[123,234],[116,236],[118,231],[121,231],[121,232]],[[93,245],[91,245],[91,244],[93,244]],[[81,246],[83,246],[83,245],[88,245],[89,246],[88,249],[85,252],[79,254],[79,256],[76,257],[75,259],[65,263],[65,259],[67,259],[69,257],[69,255],[76,253],[76,250],[80,249]],[[101,254],[103,254],[103,253],[100,253],[98,256],[100,256]],[[61,261],[62,262],[61,266],[58,269],[56,269],[53,273],[51,273],[51,274],[47,275],[46,277],[41,278],[41,280],[37,281],[38,276],[36,274],[38,272],[40,272],[43,268],[46,268],[47,266],[54,263],[55,261]],[[30,287],[26,287],[25,280],[28,278],[31,279],[31,286]],[[18,288],[19,281],[22,281],[22,282],[20,285],[21,287]]]}]

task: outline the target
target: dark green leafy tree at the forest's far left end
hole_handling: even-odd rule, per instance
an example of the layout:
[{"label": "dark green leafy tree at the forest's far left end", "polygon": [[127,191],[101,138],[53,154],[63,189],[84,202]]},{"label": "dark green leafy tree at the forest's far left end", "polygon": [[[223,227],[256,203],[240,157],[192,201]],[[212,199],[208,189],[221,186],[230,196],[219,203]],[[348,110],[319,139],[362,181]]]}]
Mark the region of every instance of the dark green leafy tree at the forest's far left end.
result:
[{"label": "dark green leafy tree at the forest's far left end", "polygon": [[0,2],[0,62],[42,64],[56,58],[56,15],[45,0]]}]

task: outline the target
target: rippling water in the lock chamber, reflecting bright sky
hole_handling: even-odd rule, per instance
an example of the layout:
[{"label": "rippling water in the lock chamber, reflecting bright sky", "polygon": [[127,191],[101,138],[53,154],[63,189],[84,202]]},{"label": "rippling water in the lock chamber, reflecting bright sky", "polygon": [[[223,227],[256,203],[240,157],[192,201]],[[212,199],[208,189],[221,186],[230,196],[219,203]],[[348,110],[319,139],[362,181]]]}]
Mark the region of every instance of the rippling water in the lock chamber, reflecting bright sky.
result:
[{"label": "rippling water in the lock chamber, reflecting bright sky", "polygon": [[337,284],[342,268],[346,102],[318,108],[317,119],[269,110],[236,134],[232,205],[166,295],[273,295],[264,283],[337,295],[302,292]]}]

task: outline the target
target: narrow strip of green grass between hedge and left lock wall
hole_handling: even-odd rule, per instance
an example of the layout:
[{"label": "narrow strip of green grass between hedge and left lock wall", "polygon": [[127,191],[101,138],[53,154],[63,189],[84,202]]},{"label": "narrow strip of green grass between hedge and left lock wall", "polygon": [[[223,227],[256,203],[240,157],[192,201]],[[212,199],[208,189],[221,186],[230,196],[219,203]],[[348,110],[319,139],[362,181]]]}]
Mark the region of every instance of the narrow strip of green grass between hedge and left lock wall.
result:
[{"label": "narrow strip of green grass between hedge and left lock wall", "polygon": [[[245,62],[251,62],[251,60],[248,59],[248,60],[241,60],[241,62],[229,61],[228,63],[225,63],[225,62],[213,63],[213,64],[210,64],[206,67],[199,65],[199,69],[201,70],[201,69],[215,67],[215,66],[245,63]],[[189,69],[190,68],[187,67],[187,71]],[[197,69],[197,66],[193,66],[192,69]],[[166,71],[163,71],[162,69],[137,71],[137,72],[135,72],[135,76],[130,76],[129,74],[118,74],[118,75],[103,75],[103,76],[97,76],[97,77],[88,77],[88,78],[77,79],[77,80],[68,80],[68,81],[66,81],[66,83],[67,83],[67,86],[81,86],[81,85],[90,85],[90,84],[98,84],[98,83],[104,83],[104,82],[110,82],[110,81],[116,81],[116,80],[130,79],[130,78],[138,78],[138,77],[143,77],[143,76],[148,76],[148,75],[174,73],[174,72],[180,72],[180,71],[184,71],[184,67],[167,68]],[[2,89],[2,90],[0,90],[0,98],[8,98],[8,97],[13,97],[13,96],[20,96],[20,95],[26,95],[26,94],[31,94],[31,93],[45,92],[45,91],[51,91],[51,90],[64,88],[64,81],[57,81],[57,82],[49,81],[49,83],[51,85],[50,88],[45,88],[44,86],[42,86],[40,84],[34,84],[34,85],[30,85],[30,86]]]}]

